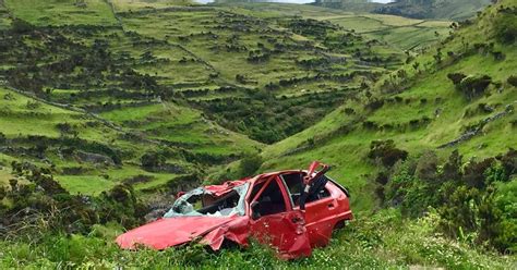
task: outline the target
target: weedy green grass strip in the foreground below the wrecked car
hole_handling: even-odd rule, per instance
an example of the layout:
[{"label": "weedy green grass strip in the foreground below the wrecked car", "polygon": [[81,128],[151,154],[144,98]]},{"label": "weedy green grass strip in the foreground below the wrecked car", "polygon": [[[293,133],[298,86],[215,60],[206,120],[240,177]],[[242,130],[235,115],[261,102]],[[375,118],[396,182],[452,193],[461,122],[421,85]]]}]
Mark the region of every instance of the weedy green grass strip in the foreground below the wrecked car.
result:
[{"label": "weedy green grass strip in the foreground below the wrecked car", "polygon": [[432,211],[417,221],[388,209],[359,217],[333,235],[329,246],[316,248],[309,258],[285,261],[257,243],[245,249],[211,253],[199,245],[165,251],[119,249],[116,224],[97,225],[88,236],[43,235],[41,243],[1,241],[0,267],[10,268],[152,268],[152,269],[508,269],[515,256],[482,251],[479,246],[452,241],[435,233],[440,218]]}]

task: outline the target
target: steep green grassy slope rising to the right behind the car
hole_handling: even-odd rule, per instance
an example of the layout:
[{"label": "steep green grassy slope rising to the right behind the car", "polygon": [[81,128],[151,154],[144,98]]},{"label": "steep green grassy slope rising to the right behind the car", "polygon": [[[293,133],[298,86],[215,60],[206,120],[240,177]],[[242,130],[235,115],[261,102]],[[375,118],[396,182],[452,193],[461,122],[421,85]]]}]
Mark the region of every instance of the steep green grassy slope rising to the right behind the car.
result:
[{"label": "steep green grassy slope rising to the right behind the car", "polygon": [[[515,40],[508,34],[515,32],[515,10],[503,8],[515,7],[510,2],[461,25],[446,41],[347,100],[316,125],[267,147],[262,169],[304,167],[314,159],[329,162],[335,165],[330,174],[357,195],[354,207],[371,209],[369,180],[378,170],[366,157],[373,140],[393,139],[416,156],[428,149],[447,156],[458,149],[467,158],[481,158],[515,147],[517,93],[508,79],[517,69]],[[447,77],[453,73],[486,75],[491,84],[469,98],[468,82],[455,86]]]}]

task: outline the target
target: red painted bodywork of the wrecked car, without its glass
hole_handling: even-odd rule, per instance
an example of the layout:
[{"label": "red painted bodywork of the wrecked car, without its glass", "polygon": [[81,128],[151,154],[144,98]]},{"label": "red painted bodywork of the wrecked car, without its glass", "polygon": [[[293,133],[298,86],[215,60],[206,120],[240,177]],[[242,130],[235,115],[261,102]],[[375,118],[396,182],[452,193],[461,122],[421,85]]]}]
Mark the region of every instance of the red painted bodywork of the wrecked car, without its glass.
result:
[{"label": "red painted bodywork of the wrecked car, without its glass", "polygon": [[[290,170],[265,173],[251,179],[225,182],[221,185],[205,186],[205,191],[219,197],[229,194],[233,187],[249,182],[250,188],[245,195],[245,214],[164,218],[120,235],[117,237],[117,243],[127,249],[134,249],[137,245],[165,249],[200,240],[201,244],[218,250],[225,241],[247,246],[249,238],[255,237],[258,242],[277,249],[281,258],[292,259],[310,256],[313,247],[328,244],[332,232],[338,222],[352,219],[348,192],[333,181],[328,181],[325,185],[326,197],[308,202],[305,211],[301,211],[298,206],[292,205],[292,194],[289,193],[284,176],[280,177],[280,175],[304,173],[308,176],[304,176],[302,182],[311,184],[311,181],[317,177],[316,169],[320,167],[324,170],[328,169],[327,165],[315,161],[308,171]],[[264,183],[262,188],[256,188],[256,194],[252,198],[253,188],[262,183]],[[275,186],[272,186],[269,191],[274,189],[275,192],[266,192],[272,184]],[[273,187],[278,187],[278,189]],[[268,213],[265,210],[257,210],[257,208],[256,212],[262,211],[262,214],[254,217],[252,205],[255,207],[268,206],[273,204],[272,197],[278,200],[274,206],[284,210]]]}]

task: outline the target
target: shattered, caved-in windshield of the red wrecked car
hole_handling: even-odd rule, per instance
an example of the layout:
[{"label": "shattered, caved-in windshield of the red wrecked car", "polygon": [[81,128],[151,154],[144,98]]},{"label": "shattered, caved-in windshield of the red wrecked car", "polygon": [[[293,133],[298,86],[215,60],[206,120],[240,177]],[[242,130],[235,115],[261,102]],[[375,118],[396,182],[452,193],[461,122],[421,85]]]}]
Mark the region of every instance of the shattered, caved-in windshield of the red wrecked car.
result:
[{"label": "shattered, caved-in windshield of the red wrecked car", "polygon": [[178,198],[164,218],[243,216],[249,186],[250,183],[244,183],[221,196],[215,196],[204,187],[195,188]]}]

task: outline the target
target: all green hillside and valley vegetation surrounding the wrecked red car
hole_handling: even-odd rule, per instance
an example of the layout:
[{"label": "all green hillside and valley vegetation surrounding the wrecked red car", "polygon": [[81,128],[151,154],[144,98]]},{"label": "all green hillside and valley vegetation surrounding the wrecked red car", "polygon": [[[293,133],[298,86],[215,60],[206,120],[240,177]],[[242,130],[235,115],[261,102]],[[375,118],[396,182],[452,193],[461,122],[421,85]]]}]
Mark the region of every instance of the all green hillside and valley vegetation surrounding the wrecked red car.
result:
[{"label": "all green hillside and valley vegetation surrounding the wrecked red car", "polygon": [[[516,9],[0,0],[0,268],[515,268]],[[208,174],[312,160],[358,220],[311,258],[112,243]]]}]

